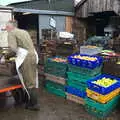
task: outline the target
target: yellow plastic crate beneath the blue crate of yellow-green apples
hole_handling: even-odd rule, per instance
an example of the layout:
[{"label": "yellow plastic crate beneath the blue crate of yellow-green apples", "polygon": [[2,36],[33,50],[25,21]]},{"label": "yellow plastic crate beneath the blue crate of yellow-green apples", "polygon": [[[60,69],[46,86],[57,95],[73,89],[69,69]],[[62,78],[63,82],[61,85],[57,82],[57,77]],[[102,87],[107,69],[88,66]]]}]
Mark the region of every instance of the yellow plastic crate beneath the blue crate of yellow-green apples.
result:
[{"label": "yellow plastic crate beneath the blue crate of yellow-green apples", "polygon": [[108,101],[110,101],[112,98],[116,97],[117,95],[119,95],[120,93],[120,88],[112,91],[111,93],[107,94],[107,95],[102,95],[102,94],[99,94],[97,92],[94,92],[90,89],[87,89],[86,90],[87,92],[87,96],[89,98],[92,98],[93,100],[97,101],[97,102],[100,102],[100,103],[107,103]]}]

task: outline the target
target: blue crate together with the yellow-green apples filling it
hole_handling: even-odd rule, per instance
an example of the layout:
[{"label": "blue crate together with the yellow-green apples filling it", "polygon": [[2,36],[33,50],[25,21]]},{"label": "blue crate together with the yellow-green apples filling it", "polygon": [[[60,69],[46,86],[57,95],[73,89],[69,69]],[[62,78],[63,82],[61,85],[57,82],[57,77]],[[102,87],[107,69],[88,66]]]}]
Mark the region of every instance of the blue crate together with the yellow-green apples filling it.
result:
[{"label": "blue crate together with the yellow-green apples filling it", "polygon": [[106,95],[120,87],[120,78],[102,74],[87,81],[88,89]]}]

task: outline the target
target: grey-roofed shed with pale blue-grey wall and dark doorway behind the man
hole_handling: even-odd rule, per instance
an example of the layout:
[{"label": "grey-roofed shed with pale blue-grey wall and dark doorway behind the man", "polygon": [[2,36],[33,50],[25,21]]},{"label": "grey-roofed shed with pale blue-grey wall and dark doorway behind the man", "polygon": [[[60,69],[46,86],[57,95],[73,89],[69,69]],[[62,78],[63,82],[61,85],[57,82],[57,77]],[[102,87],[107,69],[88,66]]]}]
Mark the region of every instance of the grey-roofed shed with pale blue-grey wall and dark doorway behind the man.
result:
[{"label": "grey-roofed shed with pale blue-grey wall and dark doorway behind the man", "polygon": [[[35,44],[49,39],[51,30],[72,32],[73,0],[32,0],[13,3],[9,6],[14,7],[15,19],[18,20],[20,28],[37,31]],[[56,22],[55,28],[50,26],[51,18]],[[44,34],[45,32],[49,37]]]}]

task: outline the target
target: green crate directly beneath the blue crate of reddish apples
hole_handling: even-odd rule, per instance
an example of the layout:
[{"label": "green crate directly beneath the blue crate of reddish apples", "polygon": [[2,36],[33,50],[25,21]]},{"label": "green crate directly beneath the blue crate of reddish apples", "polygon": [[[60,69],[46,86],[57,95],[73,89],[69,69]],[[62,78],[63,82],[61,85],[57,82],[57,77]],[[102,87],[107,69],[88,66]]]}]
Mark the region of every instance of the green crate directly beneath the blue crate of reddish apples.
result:
[{"label": "green crate directly beneath the blue crate of reddish apples", "polygon": [[90,76],[90,77],[101,74],[101,69],[102,69],[102,66],[99,66],[95,69],[88,69],[88,68],[83,68],[83,67],[78,67],[78,66],[68,64],[69,72],[78,73],[78,74],[81,74],[84,76]]}]

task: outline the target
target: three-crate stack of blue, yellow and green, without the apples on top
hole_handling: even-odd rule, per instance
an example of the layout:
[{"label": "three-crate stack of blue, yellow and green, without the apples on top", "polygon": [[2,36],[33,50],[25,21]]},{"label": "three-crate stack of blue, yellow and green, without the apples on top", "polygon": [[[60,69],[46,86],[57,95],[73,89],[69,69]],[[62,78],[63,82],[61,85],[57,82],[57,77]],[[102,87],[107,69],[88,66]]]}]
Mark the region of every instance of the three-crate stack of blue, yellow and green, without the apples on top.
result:
[{"label": "three-crate stack of blue, yellow and green, without the apples on top", "polygon": [[[116,82],[106,87],[101,84],[96,84],[96,81],[102,80],[103,78],[115,80]],[[87,81],[87,86],[85,108],[88,113],[98,118],[108,116],[119,102],[120,78],[102,74]]]}]

